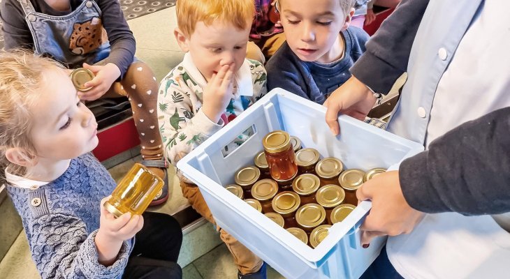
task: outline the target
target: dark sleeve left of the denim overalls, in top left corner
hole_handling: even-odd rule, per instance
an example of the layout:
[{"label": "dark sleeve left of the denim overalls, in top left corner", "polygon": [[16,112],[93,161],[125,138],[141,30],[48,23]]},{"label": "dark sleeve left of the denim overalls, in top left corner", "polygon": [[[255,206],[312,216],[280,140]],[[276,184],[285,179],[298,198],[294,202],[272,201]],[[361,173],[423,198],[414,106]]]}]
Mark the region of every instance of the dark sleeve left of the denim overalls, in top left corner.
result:
[{"label": "dark sleeve left of the denim overalls, in top left corner", "polygon": [[30,33],[24,12],[17,0],[2,0],[0,4],[0,18],[3,22],[4,48],[11,50],[15,47],[34,48],[34,38]]}]

